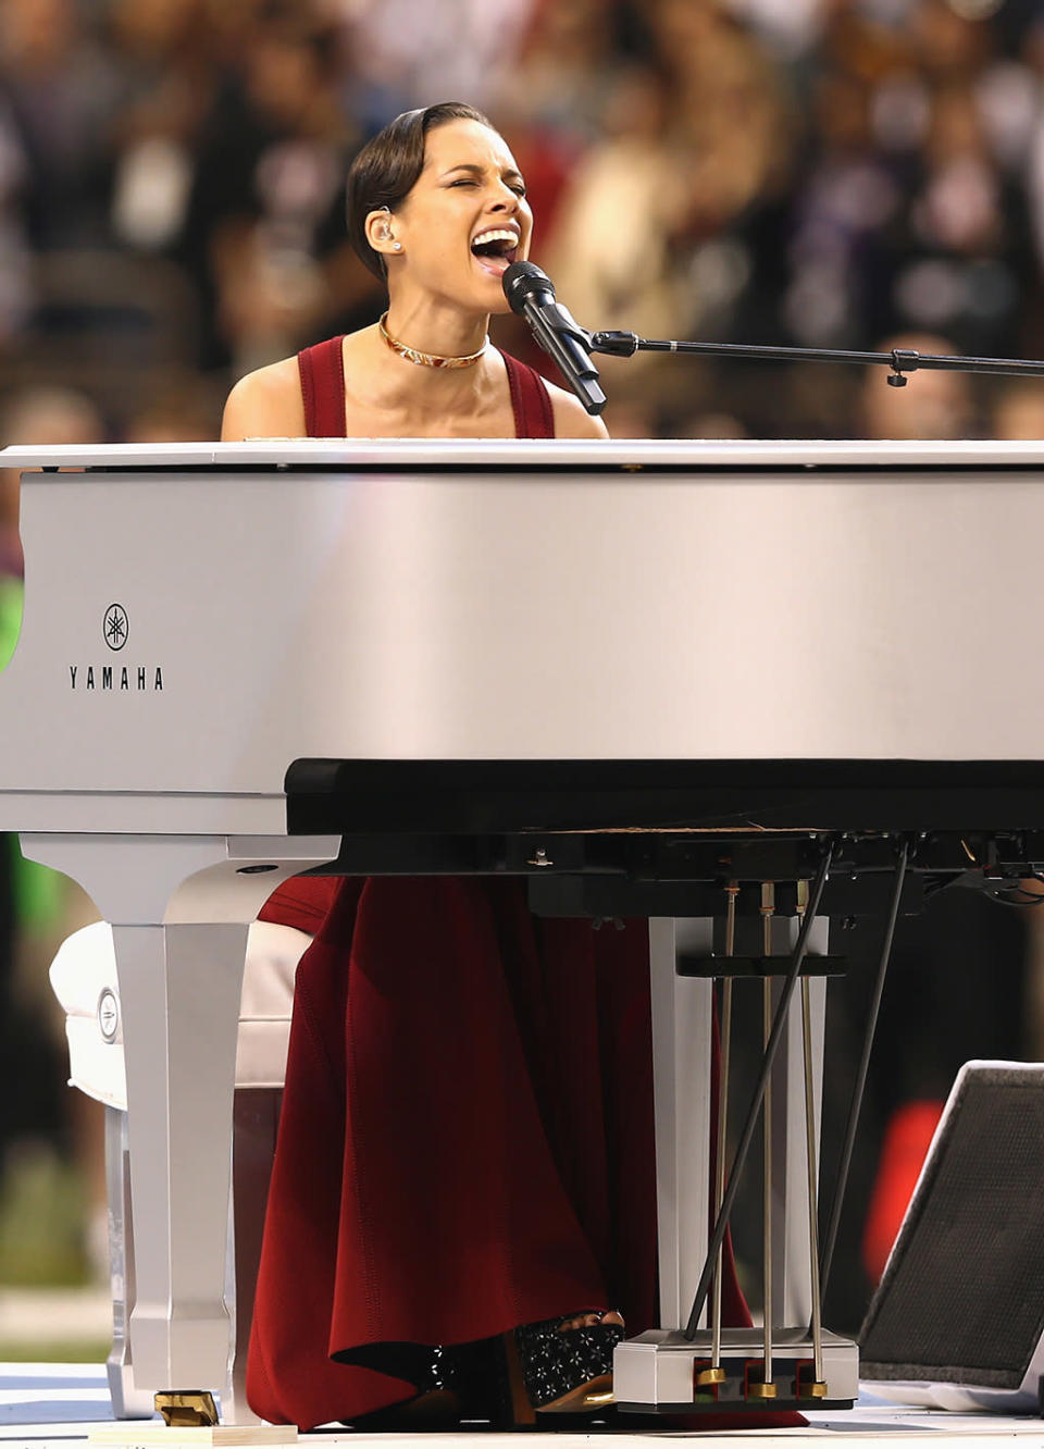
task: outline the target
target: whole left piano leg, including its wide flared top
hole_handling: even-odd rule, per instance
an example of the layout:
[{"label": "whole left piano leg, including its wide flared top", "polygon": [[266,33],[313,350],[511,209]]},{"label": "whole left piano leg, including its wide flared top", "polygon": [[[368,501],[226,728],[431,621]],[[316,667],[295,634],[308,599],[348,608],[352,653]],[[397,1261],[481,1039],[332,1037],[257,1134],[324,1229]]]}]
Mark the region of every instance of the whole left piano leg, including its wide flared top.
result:
[{"label": "whole left piano leg, including its wide flared top", "polygon": [[[329,861],[337,842],[52,835],[22,836],[22,849],[78,881],[113,926],[135,1233],[133,1387],[220,1394],[232,1355],[226,1243],[248,924],[279,881]],[[265,862],[265,872],[240,874],[246,862]]]}]

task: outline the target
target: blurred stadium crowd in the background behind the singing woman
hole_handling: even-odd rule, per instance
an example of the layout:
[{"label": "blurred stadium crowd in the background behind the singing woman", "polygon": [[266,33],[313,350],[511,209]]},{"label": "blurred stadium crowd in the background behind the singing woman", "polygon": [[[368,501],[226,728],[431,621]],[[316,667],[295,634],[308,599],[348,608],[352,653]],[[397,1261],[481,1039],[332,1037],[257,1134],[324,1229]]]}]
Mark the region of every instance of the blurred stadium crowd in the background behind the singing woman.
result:
[{"label": "blurred stadium crowd in the background behind the singing woman", "polygon": [[[447,99],[502,129],[533,256],[592,329],[1044,355],[1043,0],[1,0],[0,443],[213,439],[242,372],[375,320],[345,171],[398,112]],[[542,365],[515,319],[495,336]],[[647,355],[602,377],[617,436],[1044,436],[1044,381],[930,372],[899,390],[880,368]],[[7,474],[0,665],[16,517]],[[28,1271],[30,1230],[65,1233],[54,1271],[90,1275],[90,1211],[41,1206],[68,1169],[80,1187],[58,1197],[98,1217],[97,1172],[75,1169],[97,1133],[59,1090],[45,1000],[87,907],[7,853],[0,1282]],[[893,1059],[862,1206],[896,1108],[944,1095],[967,1055],[1040,1055],[1027,927],[967,910],[901,946],[893,1020],[937,1013],[961,952],[977,952],[967,980],[1003,982],[1001,1004],[951,998],[938,1040]],[[10,1171],[19,1152],[32,1171]],[[840,1326],[879,1266],[867,1252]]]}]

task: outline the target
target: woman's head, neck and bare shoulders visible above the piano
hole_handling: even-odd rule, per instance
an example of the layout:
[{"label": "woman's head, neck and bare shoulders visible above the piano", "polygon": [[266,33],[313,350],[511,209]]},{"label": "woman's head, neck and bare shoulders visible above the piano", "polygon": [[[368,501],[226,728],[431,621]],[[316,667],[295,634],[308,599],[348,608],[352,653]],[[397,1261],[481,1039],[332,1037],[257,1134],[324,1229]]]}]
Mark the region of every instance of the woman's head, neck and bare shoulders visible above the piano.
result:
[{"label": "woman's head, neck and bare shoulders visible above the piano", "polygon": [[308,433],[310,403],[329,400],[330,351],[343,361],[343,396],[336,417],[314,419],[317,436],[607,436],[572,394],[489,346],[489,313],[508,310],[501,277],[527,255],[533,214],[511,152],[476,110],[429,106],[387,126],[352,167],[348,217],[356,251],[387,283],[387,313],[242,378],[223,439]]}]

